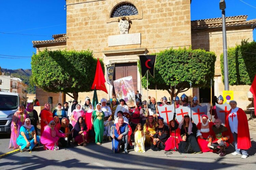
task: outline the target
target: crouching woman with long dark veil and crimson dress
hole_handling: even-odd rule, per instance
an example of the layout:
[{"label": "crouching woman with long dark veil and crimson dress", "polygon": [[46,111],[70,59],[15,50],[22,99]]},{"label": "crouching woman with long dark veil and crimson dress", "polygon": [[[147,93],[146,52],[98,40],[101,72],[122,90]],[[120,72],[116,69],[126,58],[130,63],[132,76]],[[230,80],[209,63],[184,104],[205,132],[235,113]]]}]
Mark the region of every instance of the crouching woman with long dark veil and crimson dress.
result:
[{"label": "crouching woman with long dark veil and crimson dress", "polygon": [[84,122],[83,117],[78,118],[78,122],[76,122],[74,126],[74,133],[73,138],[75,138],[75,141],[77,142],[77,145],[80,145],[85,147],[87,142],[87,127]]}]

